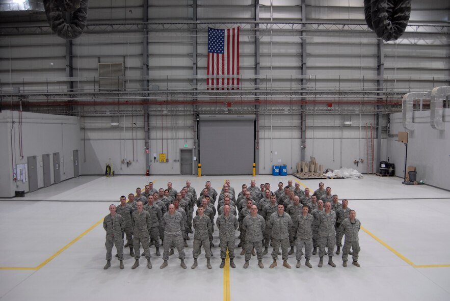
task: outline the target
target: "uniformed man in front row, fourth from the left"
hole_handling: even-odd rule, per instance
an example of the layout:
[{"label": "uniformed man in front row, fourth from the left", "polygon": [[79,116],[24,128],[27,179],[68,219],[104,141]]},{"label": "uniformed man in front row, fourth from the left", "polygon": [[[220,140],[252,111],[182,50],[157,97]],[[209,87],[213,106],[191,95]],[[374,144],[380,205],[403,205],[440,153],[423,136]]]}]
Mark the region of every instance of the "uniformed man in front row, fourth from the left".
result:
[{"label": "uniformed man in front row, fourth from the left", "polygon": [[203,245],[203,250],[205,251],[206,257],[206,267],[213,268],[209,259],[211,258],[211,248],[209,247],[209,233],[211,232],[211,220],[209,216],[206,216],[203,212],[203,207],[197,208],[197,215],[192,221],[192,226],[194,227],[194,250],[192,250],[192,256],[194,257],[194,264],[191,268],[197,267],[197,258],[200,255],[200,248]]}]

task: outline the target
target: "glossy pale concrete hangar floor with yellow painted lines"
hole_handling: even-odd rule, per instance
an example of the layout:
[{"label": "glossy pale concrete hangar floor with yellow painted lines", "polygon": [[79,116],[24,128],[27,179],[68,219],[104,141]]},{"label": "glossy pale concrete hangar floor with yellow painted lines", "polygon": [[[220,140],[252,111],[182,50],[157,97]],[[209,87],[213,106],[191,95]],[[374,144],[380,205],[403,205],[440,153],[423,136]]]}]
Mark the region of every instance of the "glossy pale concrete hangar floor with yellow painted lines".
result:
[{"label": "glossy pale concrete hangar floor with yellow painted lines", "polygon": [[[237,191],[242,183],[255,179],[271,183],[300,181],[312,190],[321,180],[298,180],[293,176],[82,176],[39,189],[24,198],[0,201],[0,299],[3,300],[118,300],[139,296],[152,299],[231,300],[291,299],[309,300],[450,300],[450,192],[426,185],[402,185],[402,179],[365,176],[364,179],[325,180],[325,186],[339,199],[349,199],[363,229],[360,231],[360,268],[317,267],[313,256],[309,269],[295,268],[295,254],[289,256],[293,268],[278,265],[269,269],[270,253],[264,256],[264,269],[256,258],[243,269],[244,256],[237,254],[236,268],[220,269],[219,248],[213,248],[213,269],[205,266],[203,255],[192,270],[192,242],[185,249],[188,269],[179,266],[177,253],[169,266],[160,269],[161,257],[151,248],[153,269],[130,267],[134,259],[125,252],[125,269],[105,264],[102,218],[110,203],[153,181],[155,188],[172,181],[179,190],[190,179],[200,193],[206,180],[220,190],[225,179]],[[217,229],[217,228],[216,228]],[[218,231],[214,243],[218,245]],[[191,234],[192,238],[192,234]],[[237,241],[237,240],[236,240]],[[128,251],[128,250],[126,250]],[[113,254],[115,251],[113,250]]]}]

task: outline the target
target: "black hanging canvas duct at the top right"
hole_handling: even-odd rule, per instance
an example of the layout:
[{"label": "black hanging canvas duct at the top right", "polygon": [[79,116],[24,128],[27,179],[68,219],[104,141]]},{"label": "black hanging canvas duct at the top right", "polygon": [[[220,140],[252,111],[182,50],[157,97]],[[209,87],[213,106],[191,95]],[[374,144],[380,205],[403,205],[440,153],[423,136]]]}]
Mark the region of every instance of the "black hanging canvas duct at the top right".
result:
[{"label": "black hanging canvas duct at the top right", "polygon": [[411,0],[364,0],[364,18],[379,38],[394,41],[408,26]]}]

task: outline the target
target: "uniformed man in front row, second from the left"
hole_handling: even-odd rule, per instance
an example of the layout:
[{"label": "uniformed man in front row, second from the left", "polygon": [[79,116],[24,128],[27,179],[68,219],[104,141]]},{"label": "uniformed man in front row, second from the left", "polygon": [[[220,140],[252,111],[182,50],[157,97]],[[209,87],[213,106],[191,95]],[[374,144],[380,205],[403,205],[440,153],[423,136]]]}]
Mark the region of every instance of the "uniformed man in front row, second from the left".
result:
[{"label": "uniformed man in front row, second from the left", "polygon": [[150,213],[144,210],[144,203],[139,201],[137,203],[138,210],[131,215],[131,221],[133,221],[133,248],[135,249],[135,264],[131,266],[131,269],[135,269],[139,266],[139,258],[141,253],[139,247],[142,244],[144,249],[145,258],[147,258],[147,267],[151,268],[151,255],[150,255]]}]

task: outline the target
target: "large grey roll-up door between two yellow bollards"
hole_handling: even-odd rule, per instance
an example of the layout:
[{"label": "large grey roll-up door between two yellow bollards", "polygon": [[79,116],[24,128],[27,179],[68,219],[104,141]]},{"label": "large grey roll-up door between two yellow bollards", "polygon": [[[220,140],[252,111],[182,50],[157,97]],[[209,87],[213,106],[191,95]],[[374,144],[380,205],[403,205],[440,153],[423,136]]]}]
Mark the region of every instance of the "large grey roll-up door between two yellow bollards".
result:
[{"label": "large grey roll-up door between two yellow bollards", "polygon": [[252,174],[253,120],[200,118],[199,135],[202,175]]}]

